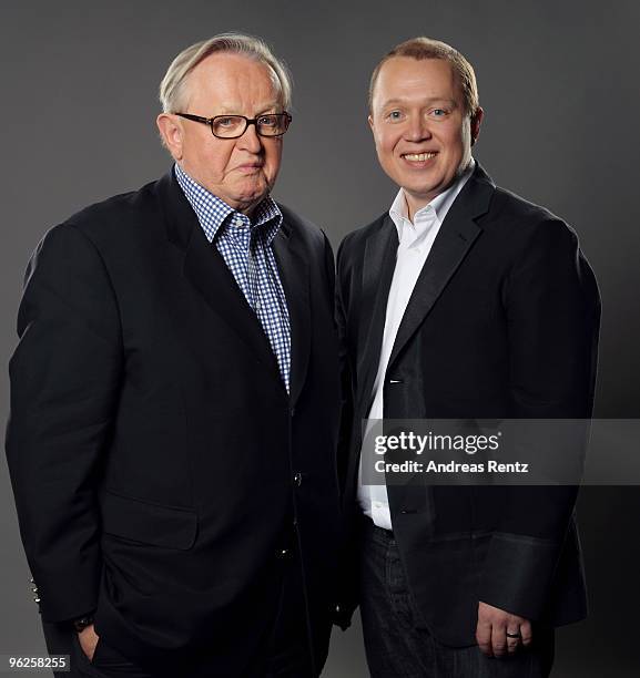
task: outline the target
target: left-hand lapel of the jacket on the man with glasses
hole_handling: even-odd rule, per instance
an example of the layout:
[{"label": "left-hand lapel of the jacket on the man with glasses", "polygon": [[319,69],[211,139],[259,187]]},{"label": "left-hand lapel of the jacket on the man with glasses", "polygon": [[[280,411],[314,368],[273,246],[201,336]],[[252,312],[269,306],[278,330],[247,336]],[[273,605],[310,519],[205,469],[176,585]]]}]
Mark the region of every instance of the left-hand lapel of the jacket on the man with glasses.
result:
[{"label": "left-hand lapel of the jacket on the man with glasses", "polygon": [[254,310],[215,245],[210,244],[173,171],[159,182],[169,238],[184,250],[183,273],[209,307],[281,381],[277,360]]}]

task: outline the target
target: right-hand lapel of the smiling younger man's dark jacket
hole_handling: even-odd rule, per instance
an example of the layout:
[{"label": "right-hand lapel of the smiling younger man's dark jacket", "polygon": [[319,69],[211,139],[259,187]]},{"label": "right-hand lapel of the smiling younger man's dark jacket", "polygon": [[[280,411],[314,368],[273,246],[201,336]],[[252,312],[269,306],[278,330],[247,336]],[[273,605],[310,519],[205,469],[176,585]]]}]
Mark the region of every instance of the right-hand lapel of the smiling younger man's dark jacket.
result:
[{"label": "right-hand lapel of the smiling younger man's dark jacket", "polygon": [[427,317],[465,256],[481,233],[475,219],[485,214],[495,191],[489,176],[477,165],[451,205],[403,316],[389,367]]}]

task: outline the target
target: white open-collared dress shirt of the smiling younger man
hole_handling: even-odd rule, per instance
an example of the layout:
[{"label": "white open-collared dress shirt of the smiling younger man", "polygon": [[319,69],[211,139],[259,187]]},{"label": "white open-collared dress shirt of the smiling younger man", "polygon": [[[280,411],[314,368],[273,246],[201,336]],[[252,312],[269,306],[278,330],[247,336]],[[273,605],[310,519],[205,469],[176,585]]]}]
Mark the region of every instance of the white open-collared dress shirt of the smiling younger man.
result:
[{"label": "white open-collared dress shirt of the smiling younger man", "polygon": [[[471,160],[467,170],[449,188],[436,196],[428,205],[418,209],[414,215],[413,223],[408,218],[407,201],[403,188],[398,191],[389,209],[389,216],[398,232],[399,244],[394,277],[387,298],[380,361],[374,382],[374,401],[367,417],[368,420],[379,420],[384,417],[383,392],[385,376],[398,328],[400,327],[420,270],[427,261],[447,212],[463,189],[463,186],[467,183],[475,164],[475,161]],[[373,423],[374,421],[367,427],[367,431]],[[393,530],[387,487],[386,485],[363,484],[362,455],[358,473],[358,503],[364,514],[368,515],[378,527]]]}]

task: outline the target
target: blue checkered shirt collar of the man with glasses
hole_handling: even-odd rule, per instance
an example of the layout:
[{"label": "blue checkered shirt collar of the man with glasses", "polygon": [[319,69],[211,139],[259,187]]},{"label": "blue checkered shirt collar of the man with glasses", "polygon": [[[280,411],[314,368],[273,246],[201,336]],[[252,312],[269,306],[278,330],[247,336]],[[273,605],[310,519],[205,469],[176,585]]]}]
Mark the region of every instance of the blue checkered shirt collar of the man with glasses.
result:
[{"label": "blue checkered shirt collar of the man with glasses", "polygon": [[[265,226],[263,229],[266,244],[270,245],[280,227],[282,226],[282,212],[275,201],[267,195],[255,207],[252,217],[235,210],[224,201],[211,193],[195,182],[186,172],[177,164],[174,164],[175,178],[184,193],[184,196],[193,207],[197,220],[204,230],[204,235],[210,243],[213,243],[217,232],[223,224],[228,224],[233,220],[236,226],[257,229]],[[262,229],[261,229],[262,230]]]}]

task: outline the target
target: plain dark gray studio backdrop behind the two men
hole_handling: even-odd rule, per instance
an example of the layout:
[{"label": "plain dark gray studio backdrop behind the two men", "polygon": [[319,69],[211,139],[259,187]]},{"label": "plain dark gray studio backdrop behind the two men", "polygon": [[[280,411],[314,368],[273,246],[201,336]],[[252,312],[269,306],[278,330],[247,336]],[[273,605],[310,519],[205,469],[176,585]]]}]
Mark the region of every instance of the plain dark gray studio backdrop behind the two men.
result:
[{"label": "plain dark gray studio backdrop behind the two men", "polygon": [[[154,124],[158,83],[181,49],[225,30],[265,38],[291,65],[294,122],[276,196],[323,226],[334,246],[386,209],[395,193],[366,124],[376,61],[419,33],[459,48],[476,66],[486,112],[476,157],[497,183],[573,225],[597,273],[603,299],[597,414],[638,417],[639,19],[632,0],[3,3],[2,421],[31,249],[82,206],[166,171]],[[0,474],[0,655],[41,653],[3,458]],[[639,508],[637,487],[582,492],[591,616],[558,634],[556,677],[638,675]],[[335,634],[325,675],[367,675],[357,624]]]}]

